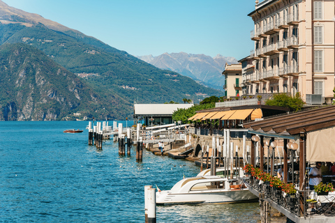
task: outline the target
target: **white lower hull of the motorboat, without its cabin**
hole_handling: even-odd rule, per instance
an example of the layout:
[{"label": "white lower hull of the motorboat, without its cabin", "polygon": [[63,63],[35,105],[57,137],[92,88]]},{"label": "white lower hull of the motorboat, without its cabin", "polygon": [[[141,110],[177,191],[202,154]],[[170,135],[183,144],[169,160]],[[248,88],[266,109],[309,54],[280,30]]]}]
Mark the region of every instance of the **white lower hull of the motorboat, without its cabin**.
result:
[{"label": "white lower hull of the motorboat, without its cabin", "polygon": [[170,191],[156,193],[157,205],[200,204],[200,203],[240,203],[257,201],[258,197],[244,190],[195,191],[184,194],[173,194]]}]

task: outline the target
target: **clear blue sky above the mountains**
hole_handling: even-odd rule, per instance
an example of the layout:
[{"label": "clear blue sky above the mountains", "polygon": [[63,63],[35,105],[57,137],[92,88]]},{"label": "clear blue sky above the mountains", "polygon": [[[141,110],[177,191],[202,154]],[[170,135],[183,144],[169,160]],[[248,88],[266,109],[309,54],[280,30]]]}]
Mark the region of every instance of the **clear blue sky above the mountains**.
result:
[{"label": "clear blue sky above the mountains", "polygon": [[250,54],[255,0],[2,0],[133,56]]}]

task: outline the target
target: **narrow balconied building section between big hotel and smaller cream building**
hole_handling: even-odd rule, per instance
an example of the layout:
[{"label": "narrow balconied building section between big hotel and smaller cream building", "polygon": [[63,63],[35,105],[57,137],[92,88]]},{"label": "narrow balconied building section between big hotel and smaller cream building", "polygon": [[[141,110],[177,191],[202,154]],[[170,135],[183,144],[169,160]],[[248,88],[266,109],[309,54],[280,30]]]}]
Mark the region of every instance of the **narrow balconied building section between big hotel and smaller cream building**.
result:
[{"label": "narrow balconied building section between big hotel and smaller cream building", "polygon": [[[246,56],[244,59],[239,60],[242,65],[242,95],[253,95],[253,72],[255,66],[253,64],[253,58]],[[258,92],[256,92],[258,93]]]}]

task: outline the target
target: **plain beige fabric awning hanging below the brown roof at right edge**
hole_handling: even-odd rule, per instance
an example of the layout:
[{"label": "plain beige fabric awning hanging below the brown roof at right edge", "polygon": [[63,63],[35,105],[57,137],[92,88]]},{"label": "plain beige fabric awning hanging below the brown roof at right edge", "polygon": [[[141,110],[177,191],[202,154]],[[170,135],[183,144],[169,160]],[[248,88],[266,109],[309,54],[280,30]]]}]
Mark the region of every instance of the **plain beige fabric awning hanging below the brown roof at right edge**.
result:
[{"label": "plain beige fabric awning hanging below the brown roof at right edge", "polygon": [[335,162],[335,127],[308,132],[306,161]]}]

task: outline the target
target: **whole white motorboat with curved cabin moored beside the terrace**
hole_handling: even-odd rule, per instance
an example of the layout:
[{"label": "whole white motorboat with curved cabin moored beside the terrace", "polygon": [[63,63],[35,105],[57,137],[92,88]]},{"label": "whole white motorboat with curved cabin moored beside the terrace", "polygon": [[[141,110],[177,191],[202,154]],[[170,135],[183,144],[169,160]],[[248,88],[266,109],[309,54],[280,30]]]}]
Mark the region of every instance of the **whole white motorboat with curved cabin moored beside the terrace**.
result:
[{"label": "whole white motorboat with curved cabin moored beside the terrace", "polygon": [[237,203],[257,201],[243,180],[221,176],[196,176],[184,178],[171,190],[156,192],[157,205],[195,203]]}]

